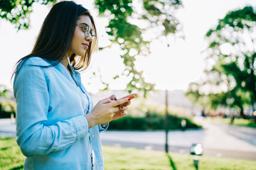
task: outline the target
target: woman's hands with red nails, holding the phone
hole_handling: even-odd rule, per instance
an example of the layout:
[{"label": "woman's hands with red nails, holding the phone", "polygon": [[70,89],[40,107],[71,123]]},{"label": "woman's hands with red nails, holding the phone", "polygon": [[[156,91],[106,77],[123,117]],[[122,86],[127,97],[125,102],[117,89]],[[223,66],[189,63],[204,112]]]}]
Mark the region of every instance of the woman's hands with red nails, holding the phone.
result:
[{"label": "woman's hands with red nails, holding the phone", "polygon": [[[113,98],[112,96],[110,97]],[[85,115],[89,128],[99,124],[106,125],[110,121],[120,118],[120,116],[123,117],[125,114],[127,114],[127,106],[122,105],[124,103],[129,103],[131,99],[121,98],[119,100],[112,100],[111,98],[105,98],[102,101],[99,101],[92,111]],[[122,111],[120,110],[120,106],[123,109]]]}]

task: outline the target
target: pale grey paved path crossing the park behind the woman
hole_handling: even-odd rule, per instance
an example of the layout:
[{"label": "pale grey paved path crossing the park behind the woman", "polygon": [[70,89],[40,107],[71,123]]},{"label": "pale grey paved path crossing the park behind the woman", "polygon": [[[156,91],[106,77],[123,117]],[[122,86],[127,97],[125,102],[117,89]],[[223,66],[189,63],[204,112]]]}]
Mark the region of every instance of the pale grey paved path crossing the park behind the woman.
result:
[{"label": "pale grey paved path crossing the park behind the woman", "polygon": [[[189,153],[193,143],[203,144],[203,155],[256,160],[256,130],[232,125],[210,123],[195,118],[203,125],[201,130],[169,131],[169,151]],[[0,119],[0,136],[15,137],[16,125],[9,119]],[[102,145],[164,150],[164,131],[112,131],[101,133]]]}]

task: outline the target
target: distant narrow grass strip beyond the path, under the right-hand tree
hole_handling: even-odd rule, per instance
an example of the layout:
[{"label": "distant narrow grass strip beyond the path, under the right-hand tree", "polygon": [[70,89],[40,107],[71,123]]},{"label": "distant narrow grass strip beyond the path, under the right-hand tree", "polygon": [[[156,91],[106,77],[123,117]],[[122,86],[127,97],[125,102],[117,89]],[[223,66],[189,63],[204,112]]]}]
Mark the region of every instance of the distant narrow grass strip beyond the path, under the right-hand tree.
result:
[{"label": "distant narrow grass strip beyond the path, under the right-hand tree", "polygon": [[[208,118],[216,123],[230,124],[230,118]],[[252,119],[235,118],[233,125],[246,126],[250,128],[256,128],[256,123]]]}]

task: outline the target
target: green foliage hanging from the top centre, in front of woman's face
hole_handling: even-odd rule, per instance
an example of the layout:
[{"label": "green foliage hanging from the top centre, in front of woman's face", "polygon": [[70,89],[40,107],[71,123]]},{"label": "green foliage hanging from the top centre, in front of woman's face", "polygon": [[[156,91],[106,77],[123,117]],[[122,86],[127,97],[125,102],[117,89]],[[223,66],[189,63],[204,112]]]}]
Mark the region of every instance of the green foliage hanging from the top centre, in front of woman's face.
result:
[{"label": "green foliage hanging from the top centre, in front of woman's face", "polygon": [[[125,69],[121,75],[130,77],[127,91],[132,92],[133,89],[137,89],[143,91],[146,96],[147,91],[154,89],[154,84],[145,81],[143,72],[138,71],[134,65],[136,57],[149,55],[151,40],[144,40],[143,35],[152,28],[159,30],[157,36],[176,33],[179,23],[173,12],[181,5],[181,1],[143,0],[137,3],[142,3],[142,11],[134,10],[135,5],[132,0],[95,0],[100,16],[110,18],[107,34],[110,35],[111,42],[118,44],[122,50],[121,57]],[[142,29],[135,25],[134,21],[137,23],[139,21],[147,22],[149,27]],[[119,76],[117,75],[115,78]]]}]

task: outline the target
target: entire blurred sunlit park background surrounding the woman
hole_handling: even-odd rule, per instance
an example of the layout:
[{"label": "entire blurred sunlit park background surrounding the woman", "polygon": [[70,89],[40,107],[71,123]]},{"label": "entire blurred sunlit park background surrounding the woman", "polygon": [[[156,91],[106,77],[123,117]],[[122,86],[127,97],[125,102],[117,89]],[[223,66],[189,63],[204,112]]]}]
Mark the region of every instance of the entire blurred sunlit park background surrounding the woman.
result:
[{"label": "entire blurred sunlit park background surrounding the woman", "polygon": [[[14,65],[56,2],[0,1],[0,136],[15,137]],[[188,155],[198,143],[201,169],[256,169],[256,1],[75,2],[97,26],[100,50],[81,72],[94,102],[139,94],[102,133],[107,165],[131,152],[109,169],[195,169],[200,156]],[[156,151],[169,152],[159,156],[166,162],[134,160]]]}]

